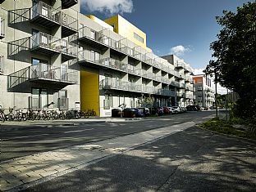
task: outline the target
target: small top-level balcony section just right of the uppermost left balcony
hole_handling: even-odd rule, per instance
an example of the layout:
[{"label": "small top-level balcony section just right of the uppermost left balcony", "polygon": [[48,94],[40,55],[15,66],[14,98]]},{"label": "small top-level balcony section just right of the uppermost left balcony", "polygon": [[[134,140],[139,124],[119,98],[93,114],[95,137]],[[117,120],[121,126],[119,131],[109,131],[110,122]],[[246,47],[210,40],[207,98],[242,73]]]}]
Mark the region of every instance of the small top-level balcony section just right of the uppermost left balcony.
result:
[{"label": "small top-level balcony section just right of the uppermost left balcony", "polygon": [[66,13],[62,12],[62,38],[66,38],[71,34],[77,33],[78,30],[78,21]]}]

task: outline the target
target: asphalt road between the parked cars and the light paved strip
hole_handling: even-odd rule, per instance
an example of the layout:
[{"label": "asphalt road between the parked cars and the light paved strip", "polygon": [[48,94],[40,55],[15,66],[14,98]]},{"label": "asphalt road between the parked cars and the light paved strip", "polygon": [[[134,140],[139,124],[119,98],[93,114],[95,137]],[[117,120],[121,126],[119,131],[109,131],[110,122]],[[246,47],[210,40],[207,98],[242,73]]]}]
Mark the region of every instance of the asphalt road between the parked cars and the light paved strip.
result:
[{"label": "asphalt road between the parked cars and the light paved strip", "polygon": [[188,112],[146,118],[142,121],[112,123],[66,123],[56,126],[43,125],[7,125],[2,123],[1,161],[36,154],[43,151],[57,150],[71,145],[104,140],[115,136],[132,134],[158,127],[167,127],[176,123],[194,121],[200,123],[214,111]]}]

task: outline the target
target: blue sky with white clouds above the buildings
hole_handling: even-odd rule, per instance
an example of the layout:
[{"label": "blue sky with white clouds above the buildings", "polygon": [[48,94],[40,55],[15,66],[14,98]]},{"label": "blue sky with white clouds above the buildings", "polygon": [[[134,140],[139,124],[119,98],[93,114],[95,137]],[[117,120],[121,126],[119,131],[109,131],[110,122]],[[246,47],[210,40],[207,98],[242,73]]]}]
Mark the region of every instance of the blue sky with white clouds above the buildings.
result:
[{"label": "blue sky with white clouds above the buildings", "polygon": [[209,60],[213,60],[209,46],[221,29],[216,16],[222,16],[223,10],[236,11],[246,2],[249,1],[81,0],[81,12],[102,20],[120,14],[147,34],[147,47],[156,55],[175,54],[190,64],[194,74],[202,74]]}]

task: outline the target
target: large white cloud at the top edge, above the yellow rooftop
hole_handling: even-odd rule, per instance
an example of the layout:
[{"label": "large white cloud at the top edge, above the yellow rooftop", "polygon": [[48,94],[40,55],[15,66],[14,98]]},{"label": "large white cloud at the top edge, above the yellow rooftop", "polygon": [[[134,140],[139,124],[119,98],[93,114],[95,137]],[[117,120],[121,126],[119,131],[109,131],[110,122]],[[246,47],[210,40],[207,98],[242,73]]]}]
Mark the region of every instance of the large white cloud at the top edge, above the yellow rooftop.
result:
[{"label": "large white cloud at the top edge, above the yellow rooftop", "polygon": [[81,3],[85,10],[99,11],[106,15],[130,13],[133,10],[132,0],[82,0]]}]

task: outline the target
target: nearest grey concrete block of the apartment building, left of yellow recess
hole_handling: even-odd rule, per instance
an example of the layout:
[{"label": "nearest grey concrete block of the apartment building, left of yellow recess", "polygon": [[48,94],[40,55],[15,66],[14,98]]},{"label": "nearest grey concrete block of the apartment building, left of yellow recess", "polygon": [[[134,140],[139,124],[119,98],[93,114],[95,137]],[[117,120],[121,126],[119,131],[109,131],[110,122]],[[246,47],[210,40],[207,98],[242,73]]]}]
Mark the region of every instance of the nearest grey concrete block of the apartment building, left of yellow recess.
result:
[{"label": "nearest grey concrete block of the apartment building, left of yellow recess", "polygon": [[79,2],[6,0],[0,6],[2,108],[74,108],[80,78],[69,62],[78,49],[68,37],[78,32]]}]

